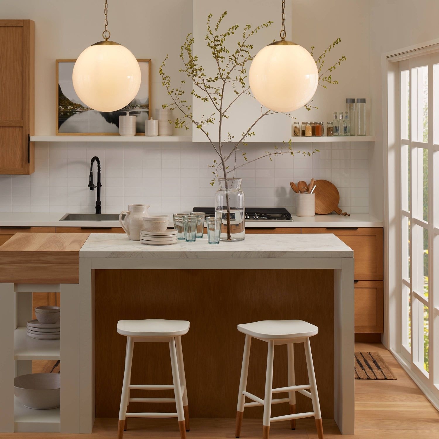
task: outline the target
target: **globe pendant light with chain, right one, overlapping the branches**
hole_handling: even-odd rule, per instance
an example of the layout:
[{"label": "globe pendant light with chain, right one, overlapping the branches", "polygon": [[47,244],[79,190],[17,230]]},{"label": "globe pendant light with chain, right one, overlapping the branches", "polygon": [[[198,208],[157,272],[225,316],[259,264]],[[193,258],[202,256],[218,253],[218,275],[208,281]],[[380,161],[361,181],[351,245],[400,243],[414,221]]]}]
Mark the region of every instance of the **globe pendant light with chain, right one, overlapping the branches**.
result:
[{"label": "globe pendant light with chain, right one, overlapping the branches", "polygon": [[316,62],[308,50],[285,40],[284,11],[285,0],[282,0],[281,40],[258,52],[248,74],[254,97],[278,112],[290,112],[305,105],[319,82]]}]

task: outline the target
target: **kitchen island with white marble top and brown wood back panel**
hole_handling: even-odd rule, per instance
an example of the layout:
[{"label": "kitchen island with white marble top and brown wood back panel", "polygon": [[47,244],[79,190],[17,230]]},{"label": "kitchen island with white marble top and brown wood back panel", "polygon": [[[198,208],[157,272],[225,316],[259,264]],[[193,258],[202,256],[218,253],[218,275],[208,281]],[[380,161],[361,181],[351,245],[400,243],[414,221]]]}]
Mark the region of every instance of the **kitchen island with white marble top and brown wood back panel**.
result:
[{"label": "kitchen island with white marble top and brown wood back panel", "polygon": [[[61,374],[61,395],[66,385],[71,406],[77,402],[77,410],[69,411],[77,423],[63,428],[61,396],[61,432],[91,432],[95,416],[117,416],[125,340],[115,322],[157,317],[191,321],[182,338],[189,408],[191,417],[204,418],[234,417],[244,344],[237,323],[301,318],[316,324],[320,331],[311,346],[323,417],[335,419],[343,434],[353,434],[353,267],[353,251],[332,234],[252,234],[234,243],[209,245],[203,238],[163,247],[129,241],[123,234],[90,234],[79,250],[78,306],[69,316],[77,320],[78,331],[64,336],[61,327],[61,352],[65,343],[71,347],[70,359],[77,350],[69,370],[78,369],[77,378]],[[11,279],[7,282],[3,294],[7,288],[24,291]],[[274,380],[281,386],[286,361],[277,349]],[[169,358],[160,346],[141,346],[137,355],[133,381],[169,381]],[[248,389],[257,395],[264,383],[265,355],[255,343]],[[298,382],[306,379],[303,357],[298,352]],[[62,361],[61,353],[61,369]],[[298,398],[298,410],[305,408],[302,402],[307,403]],[[285,410],[273,406],[273,413],[275,408]],[[262,425],[257,408],[246,410],[247,416],[260,417]]]}]

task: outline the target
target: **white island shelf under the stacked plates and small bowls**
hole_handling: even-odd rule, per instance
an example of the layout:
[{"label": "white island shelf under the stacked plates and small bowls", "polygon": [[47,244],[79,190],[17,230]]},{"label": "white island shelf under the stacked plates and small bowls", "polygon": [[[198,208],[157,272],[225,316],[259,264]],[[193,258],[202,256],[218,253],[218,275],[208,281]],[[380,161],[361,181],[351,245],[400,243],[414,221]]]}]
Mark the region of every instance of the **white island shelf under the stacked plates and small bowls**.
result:
[{"label": "white island shelf under the stacked plates and small bowls", "polygon": [[37,340],[26,334],[25,327],[14,331],[14,360],[60,359],[60,340]]}]

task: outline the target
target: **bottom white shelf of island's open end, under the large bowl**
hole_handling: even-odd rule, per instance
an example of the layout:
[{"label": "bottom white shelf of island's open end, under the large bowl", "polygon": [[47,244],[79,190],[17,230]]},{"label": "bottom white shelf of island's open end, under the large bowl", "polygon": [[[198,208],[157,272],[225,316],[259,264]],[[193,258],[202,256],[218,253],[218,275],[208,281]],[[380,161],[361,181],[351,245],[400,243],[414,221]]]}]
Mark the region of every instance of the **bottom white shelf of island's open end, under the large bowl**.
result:
[{"label": "bottom white shelf of island's open end, under the large bowl", "polygon": [[34,410],[23,406],[14,397],[14,431],[18,433],[61,431],[60,408],[49,410]]}]

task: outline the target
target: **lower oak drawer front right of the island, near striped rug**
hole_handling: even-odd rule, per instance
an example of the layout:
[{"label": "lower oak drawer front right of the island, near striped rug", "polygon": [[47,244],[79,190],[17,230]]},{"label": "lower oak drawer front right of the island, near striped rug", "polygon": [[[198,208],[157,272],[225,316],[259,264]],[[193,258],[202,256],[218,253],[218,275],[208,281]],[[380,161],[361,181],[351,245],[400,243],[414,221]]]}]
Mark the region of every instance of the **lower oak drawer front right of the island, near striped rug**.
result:
[{"label": "lower oak drawer front right of the island, near striped rug", "polygon": [[358,281],[355,284],[355,332],[384,331],[383,281]]}]

